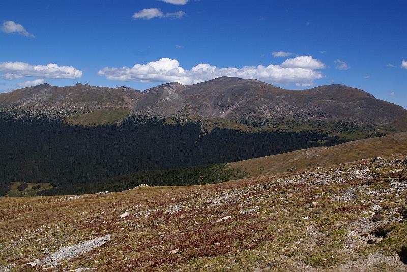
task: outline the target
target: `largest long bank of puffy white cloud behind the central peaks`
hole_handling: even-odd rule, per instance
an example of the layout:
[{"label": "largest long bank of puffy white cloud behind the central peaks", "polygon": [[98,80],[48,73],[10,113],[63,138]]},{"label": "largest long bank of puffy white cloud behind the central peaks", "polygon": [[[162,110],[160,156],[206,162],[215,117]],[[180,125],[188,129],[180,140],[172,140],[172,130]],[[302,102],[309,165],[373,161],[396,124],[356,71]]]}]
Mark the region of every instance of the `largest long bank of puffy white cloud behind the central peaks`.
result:
[{"label": "largest long bank of puffy white cloud behind the central peaks", "polygon": [[[319,65],[318,67],[323,67]],[[325,66],[324,66],[325,67]],[[318,68],[319,69],[319,68]],[[196,84],[221,76],[259,79],[269,83],[310,85],[323,74],[311,68],[283,67],[282,65],[244,66],[241,68],[218,68],[209,64],[198,64],[190,70],[184,69],[176,59],[161,58],[147,64],[135,64],[132,67],[105,67],[98,75],[108,80],[138,82],[179,82]]]}]

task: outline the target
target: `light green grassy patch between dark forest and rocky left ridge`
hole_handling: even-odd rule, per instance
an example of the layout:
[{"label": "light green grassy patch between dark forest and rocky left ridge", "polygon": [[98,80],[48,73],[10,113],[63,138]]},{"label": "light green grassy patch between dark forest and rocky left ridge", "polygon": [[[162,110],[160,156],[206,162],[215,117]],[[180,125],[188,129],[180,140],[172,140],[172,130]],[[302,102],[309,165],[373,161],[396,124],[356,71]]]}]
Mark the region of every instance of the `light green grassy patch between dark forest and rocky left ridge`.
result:
[{"label": "light green grassy patch between dark forest and rocky left ridge", "polygon": [[97,126],[120,123],[130,113],[127,107],[106,108],[94,110],[85,114],[77,114],[66,117],[65,120],[71,125]]}]

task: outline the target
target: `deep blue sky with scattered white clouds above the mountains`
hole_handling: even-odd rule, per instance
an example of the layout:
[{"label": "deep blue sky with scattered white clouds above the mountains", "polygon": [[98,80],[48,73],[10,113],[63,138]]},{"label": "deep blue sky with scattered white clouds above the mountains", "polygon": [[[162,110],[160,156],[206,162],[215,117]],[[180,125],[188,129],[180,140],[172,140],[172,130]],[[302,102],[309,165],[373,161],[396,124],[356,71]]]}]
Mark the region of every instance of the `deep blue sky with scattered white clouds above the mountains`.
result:
[{"label": "deep blue sky with scattered white clouds above the mountains", "polygon": [[0,92],[237,75],[290,89],[345,84],[407,108],[405,1],[166,2],[2,0]]}]

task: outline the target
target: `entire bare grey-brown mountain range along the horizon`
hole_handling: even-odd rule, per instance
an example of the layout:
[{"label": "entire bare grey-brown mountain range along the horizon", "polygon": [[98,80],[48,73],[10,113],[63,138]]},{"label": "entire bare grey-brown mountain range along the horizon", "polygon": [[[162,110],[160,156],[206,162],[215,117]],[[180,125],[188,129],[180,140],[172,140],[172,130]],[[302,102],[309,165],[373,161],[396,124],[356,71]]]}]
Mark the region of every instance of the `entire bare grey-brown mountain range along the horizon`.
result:
[{"label": "entire bare grey-brown mountain range along the horizon", "polygon": [[286,90],[256,79],[220,77],[193,85],[162,84],[143,92],[122,86],[94,87],[77,83],[49,84],[0,94],[0,110],[66,117],[100,109],[127,108],[129,113],[158,117],[171,115],[245,118],[293,117],[334,120],[359,125],[405,123],[400,106],[345,85]]}]

